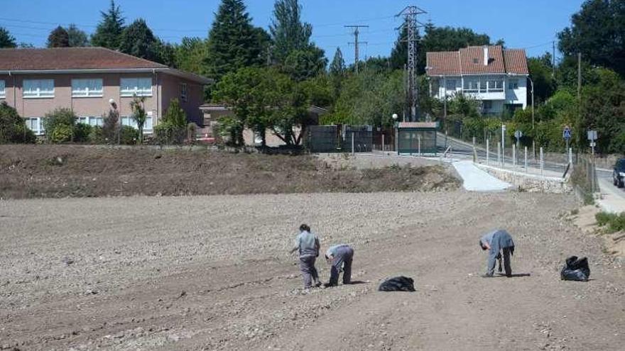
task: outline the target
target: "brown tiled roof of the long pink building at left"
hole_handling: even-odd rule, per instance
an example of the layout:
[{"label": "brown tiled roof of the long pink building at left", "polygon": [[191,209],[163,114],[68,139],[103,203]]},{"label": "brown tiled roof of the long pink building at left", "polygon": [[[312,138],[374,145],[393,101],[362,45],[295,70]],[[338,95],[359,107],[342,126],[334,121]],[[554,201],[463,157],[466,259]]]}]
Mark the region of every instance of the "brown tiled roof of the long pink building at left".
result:
[{"label": "brown tiled roof of the long pink building at left", "polygon": [[0,49],[0,70],[167,68],[106,48]]}]

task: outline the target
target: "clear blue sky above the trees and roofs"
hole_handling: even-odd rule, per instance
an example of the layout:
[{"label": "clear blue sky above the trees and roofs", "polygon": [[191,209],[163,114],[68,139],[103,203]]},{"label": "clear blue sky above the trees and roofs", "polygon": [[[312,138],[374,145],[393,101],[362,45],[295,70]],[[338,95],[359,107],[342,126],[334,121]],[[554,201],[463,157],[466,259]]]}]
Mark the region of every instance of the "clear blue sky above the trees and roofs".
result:
[{"label": "clear blue sky above the trees and roofs", "polygon": [[[218,0],[118,0],[126,21],[145,18],[156,35],[178,42],[183,36],[205,38],[219,6]],[[580,9],[582,0],[300,0],[303,19],[313,26],[313,40],[332,57],[337,47],[345,60],[354,60],[353,40],[348,24],[364,24],[361,57],[389,55],[401,24],[395,18],[405,6],[415,4],[428,11],[420,21],[435,26],[464,26],[486,33],[492,40],[502,38],[509,48],[526,48],[528,56],[551,50],[558,30],[570,24],[570,16]],[[246,0],[256,26],[267,28],[273,0]],[[18,42],[45,45],[56,25],[76,23],[92,33],[100,20],[100,10],[109,0],[0,0],[0,26]]]}]

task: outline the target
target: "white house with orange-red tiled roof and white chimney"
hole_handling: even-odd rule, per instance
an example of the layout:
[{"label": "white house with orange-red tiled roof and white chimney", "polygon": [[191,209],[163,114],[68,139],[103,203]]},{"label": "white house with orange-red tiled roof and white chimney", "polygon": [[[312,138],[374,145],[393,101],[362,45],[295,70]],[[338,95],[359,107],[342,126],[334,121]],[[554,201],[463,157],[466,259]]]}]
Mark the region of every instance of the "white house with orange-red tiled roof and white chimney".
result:
[{"label": "white house with orange-red tiled roof and white chimney", "polygon": [[425,70],[430,96],[438,99],[470,94],[481,102],[482,113],[486,114],[527,106],[529,72],[523,49],[494,45],[428,52]]}]

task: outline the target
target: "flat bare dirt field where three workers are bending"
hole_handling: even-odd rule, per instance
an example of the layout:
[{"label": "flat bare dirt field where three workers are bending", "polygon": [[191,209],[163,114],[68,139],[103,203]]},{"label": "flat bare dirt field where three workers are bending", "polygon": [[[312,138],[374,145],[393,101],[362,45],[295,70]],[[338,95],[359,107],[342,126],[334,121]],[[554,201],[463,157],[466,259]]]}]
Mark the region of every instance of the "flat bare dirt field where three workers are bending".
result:
[{"label": "flat bare dirt field where three workers are bending", "polygon": [[[623,350],[625,274],[563,213],[572,198],[464,191],[0,201],[9,350]],[[362,284],[300,289],[309,223]],[[509,229],[515,273],[483,279]],[[568,255],[592,281],[562,282]],[[327,280],[324,262],[320,274]],[[376,291],[404,274],[415,293]]]}]

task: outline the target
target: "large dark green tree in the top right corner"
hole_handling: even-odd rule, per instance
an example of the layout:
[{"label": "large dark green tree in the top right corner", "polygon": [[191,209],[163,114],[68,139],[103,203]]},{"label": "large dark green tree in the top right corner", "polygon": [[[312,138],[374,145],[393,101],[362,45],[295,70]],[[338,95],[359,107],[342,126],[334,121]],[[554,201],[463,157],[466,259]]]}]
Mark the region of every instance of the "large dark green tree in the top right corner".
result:
[{"label": "large dark green tree in the top right corner", "polygon": [[625,76],[625,1],[587,0],[571,17],[571,26],[558,33],[565,56],[578,52],[592,65]]}]

